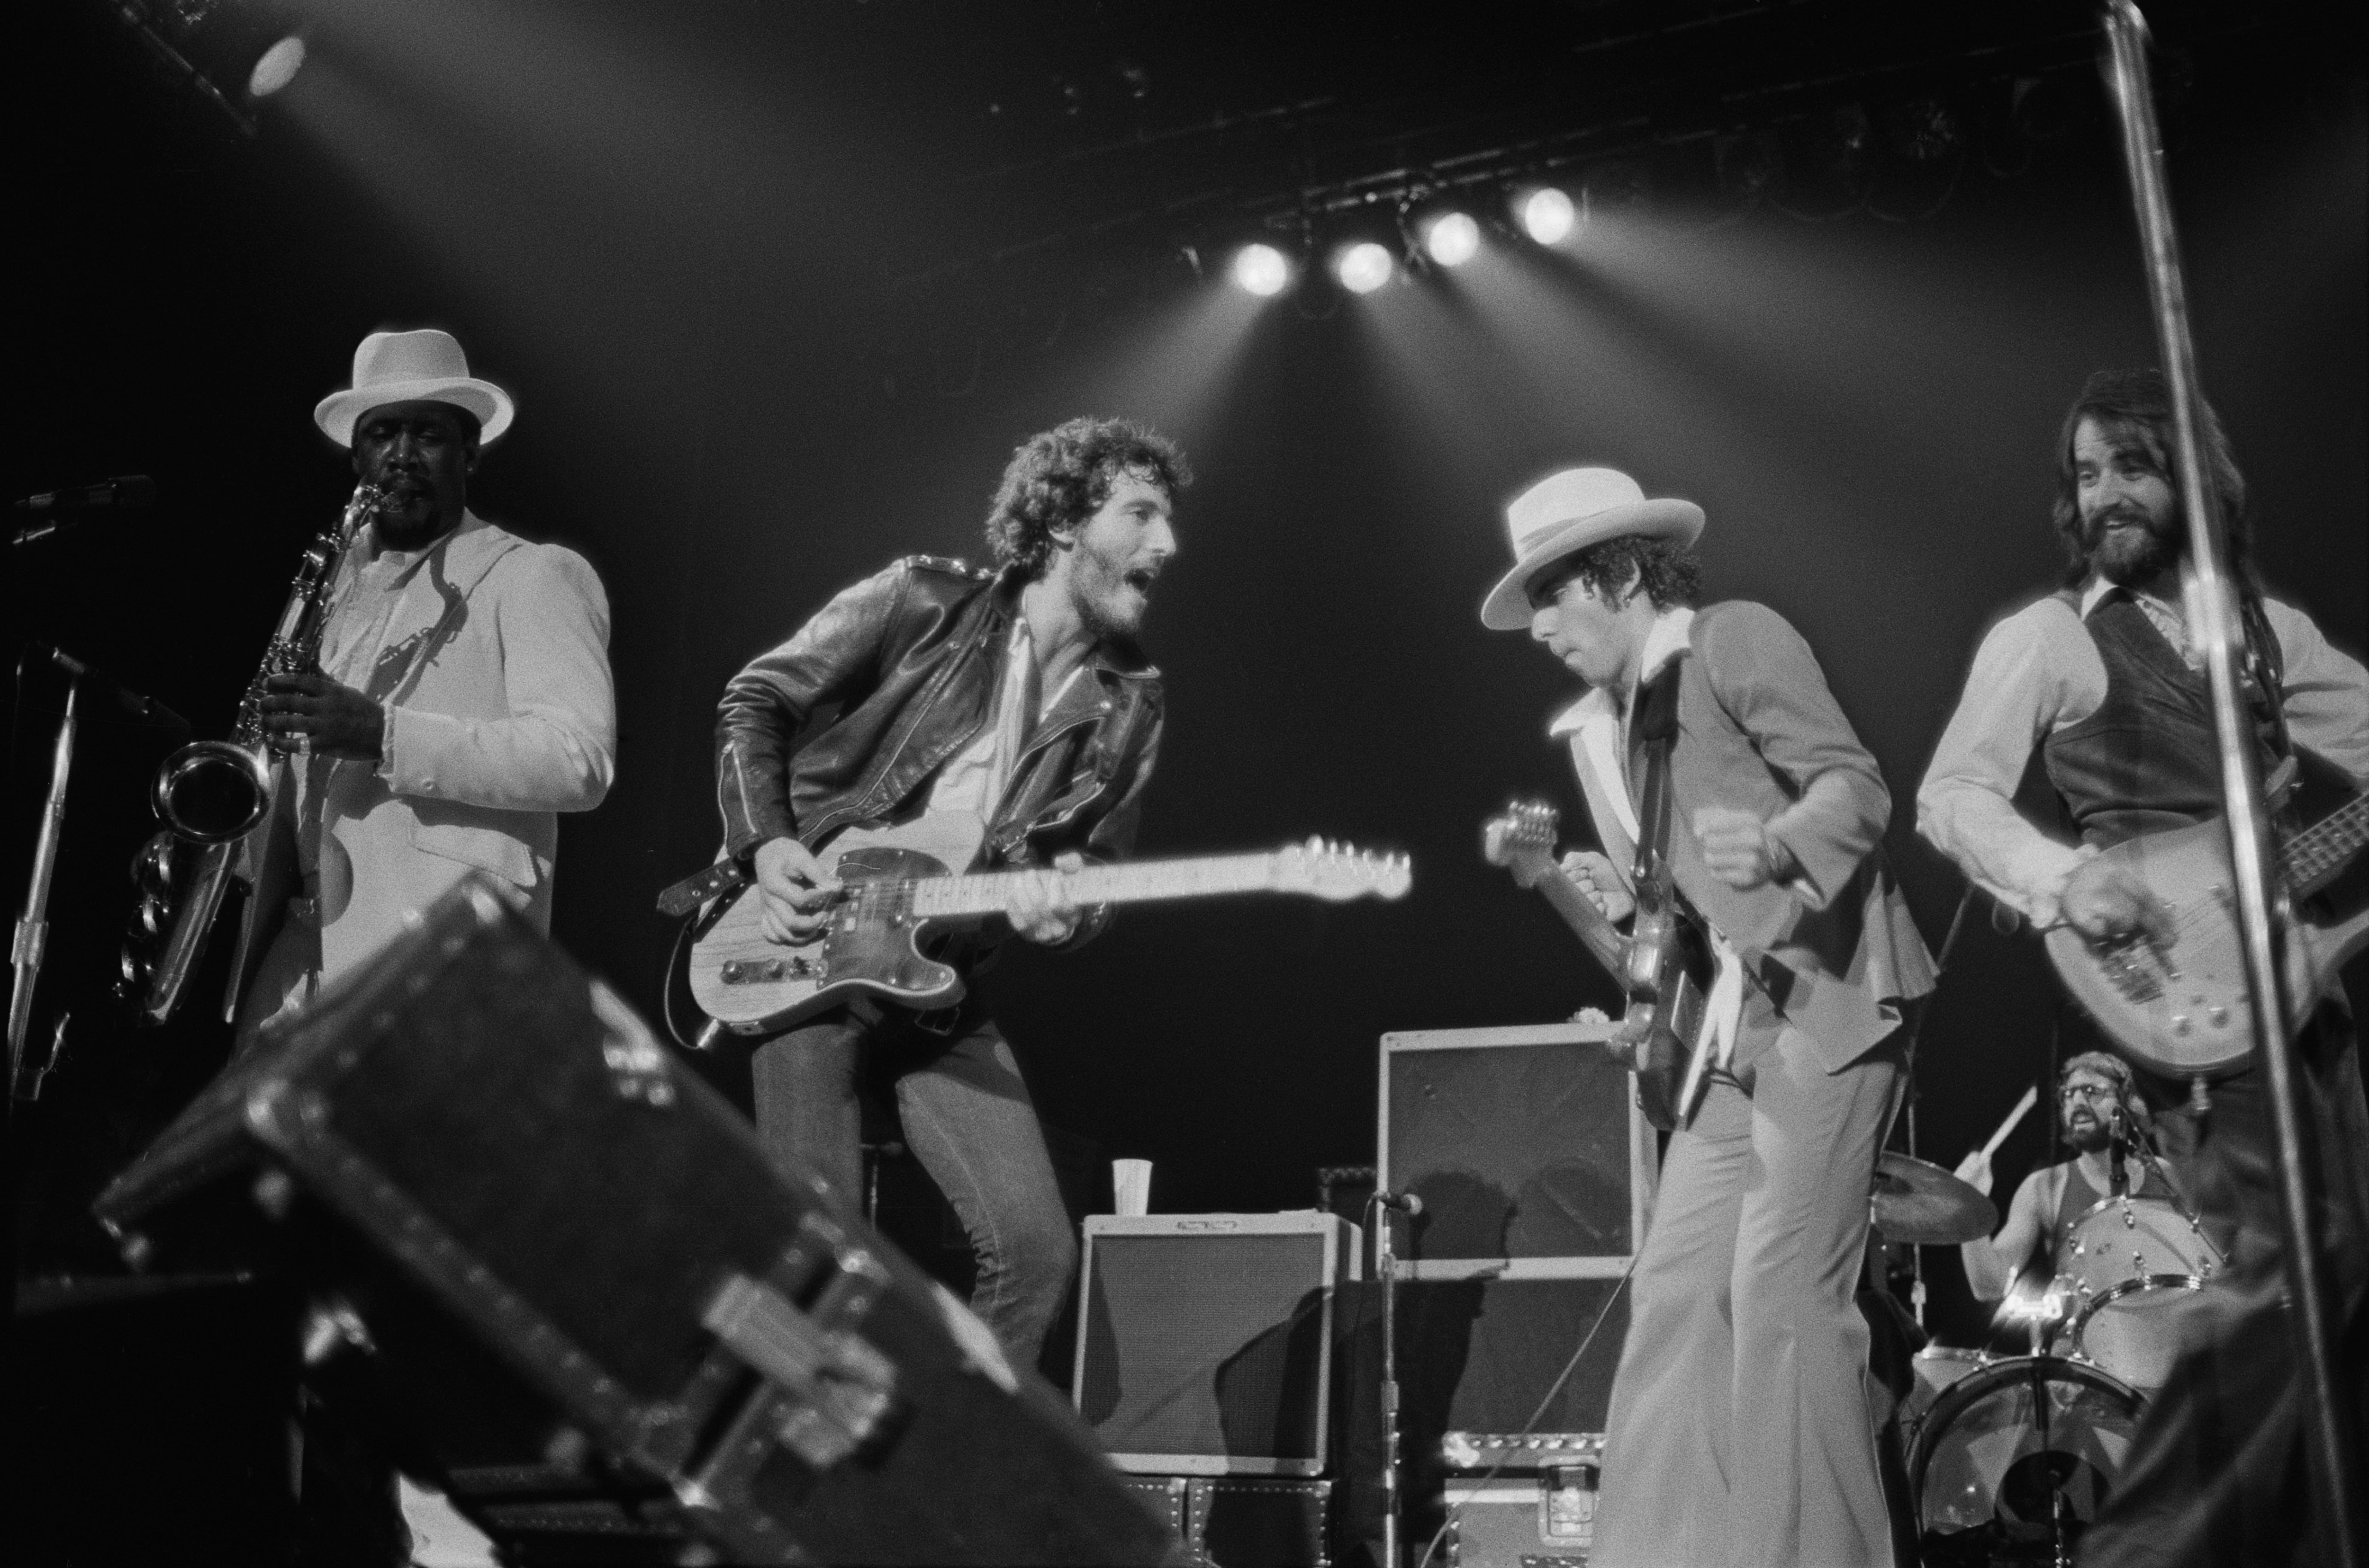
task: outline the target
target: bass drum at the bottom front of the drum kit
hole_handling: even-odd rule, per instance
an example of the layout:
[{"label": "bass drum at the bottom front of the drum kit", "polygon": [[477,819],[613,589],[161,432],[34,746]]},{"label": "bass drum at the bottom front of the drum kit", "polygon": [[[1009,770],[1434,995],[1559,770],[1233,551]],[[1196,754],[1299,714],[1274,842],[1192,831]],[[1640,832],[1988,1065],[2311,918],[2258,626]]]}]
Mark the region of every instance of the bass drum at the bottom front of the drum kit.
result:
[{"label": "bass drum at the bottom front of the drum kit", "polygon": [[2068,1561],[2139,1419],[2139,1395],[2085,1362],[2018,1355],[1933,1402],[1909,1452],[1926,1568]]}]

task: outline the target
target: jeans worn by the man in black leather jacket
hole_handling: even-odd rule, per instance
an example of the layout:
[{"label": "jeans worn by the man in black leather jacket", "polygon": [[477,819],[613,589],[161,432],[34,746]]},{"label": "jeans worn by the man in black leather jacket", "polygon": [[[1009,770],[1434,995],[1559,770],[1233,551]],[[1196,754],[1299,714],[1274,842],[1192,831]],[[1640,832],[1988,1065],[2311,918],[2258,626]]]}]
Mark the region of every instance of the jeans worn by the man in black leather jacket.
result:
[{"label": "jeans worn by the man in black leather jacket", "polygon": [[765,1151],[822,1172],[850,1208],[862,1182],[862,1092],[895,1090],[905,1146],[971,1236],[971,1310],[1016,1367],[1035,1367],[1078,1272],[1078,1239],[995,1021],[974,1002],[936,1035],[895,1009],[839,1009],[760,1045],[751,1078]]}]

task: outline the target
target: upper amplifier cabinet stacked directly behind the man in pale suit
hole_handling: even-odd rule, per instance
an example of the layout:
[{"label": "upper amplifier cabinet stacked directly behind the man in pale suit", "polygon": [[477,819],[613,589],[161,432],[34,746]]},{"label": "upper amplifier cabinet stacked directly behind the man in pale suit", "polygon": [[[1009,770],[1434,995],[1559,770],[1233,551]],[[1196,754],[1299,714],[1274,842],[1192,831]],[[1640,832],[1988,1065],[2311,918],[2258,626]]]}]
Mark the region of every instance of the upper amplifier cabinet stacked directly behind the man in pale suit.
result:
[{"label": "upper amplifier cabinet stacked directly behind the man in pale suit", "polygon": [[1405,1279],[1618,1277],[1644,1236],[1658,1149],[1611,1023],[1381,1037],[1381,1184],[1424,1213]]}]

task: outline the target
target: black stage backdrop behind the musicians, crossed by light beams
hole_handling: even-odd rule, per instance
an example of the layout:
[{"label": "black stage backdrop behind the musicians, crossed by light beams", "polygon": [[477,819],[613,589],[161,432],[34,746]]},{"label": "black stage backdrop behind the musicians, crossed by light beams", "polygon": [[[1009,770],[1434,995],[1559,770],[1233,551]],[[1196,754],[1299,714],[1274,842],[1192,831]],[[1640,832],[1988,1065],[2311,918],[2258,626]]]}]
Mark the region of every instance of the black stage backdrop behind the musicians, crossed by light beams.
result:
[{"label": "black stage backdrop behind the musicians, crossed by light beams", "polygon": [[[519,396],[474,505],[583,550],[609,587],[618,782],[564,827],[557,933],[656,1007],[670,928],[651,895],[715,848],[723,680],[888,557],[978,559],[1026,433],[1147,417],[1201,478],[1147,630],[1173,720],[1142,853],[1327,834],[1410,850],[1414,893],[1130,912],[1080,955],[1014,955],[993,988],[1047,1120],[1156,1161],[1158,1208],[1286,1208],[1315,1201],[1317,1165],[1372,1158],[1383,1030],[1609,1002],[1545,905],[1478,857],[1514,793],[1582,812],[1545,739],[1566,680],[1476,606],[1507,559],[1502,502],[1611,462],[1703,502],[1713,597],[1808,632],[1883,763],[1890,853],[1938,945],[1964,883],[1914,836],[1917,779],[1983,628],[2059,568],[2061,410],[2089,369],[2156,358],[2082,14],[2035,7],[2073,28],[2073,66],[2040,73],[2059,102],[2007,152],[1969,133],[1848,204],[1663,178],[1556,253],[1492,234],[1452,275],[1258,306],[1225,287],[1206,225],[1147,242],[1158,220],[1118,239],[1094,223],[1163,201],[1199,223],[1222,208],[1208,189],[1263,189],[1256,159],[1315,168],[1312,133],[1303,152],[1293,133],[1227,142],[1234,163],[1213,152],[1194,187],[1192,147],[1158,168],[1076,152],[1094,135],[1045,107],[1064,62],[1102,71],[1076,66],[1087,99],[1113,92],[1109,62],[1139,62],[1154,104],[1196,92],[1194,114],[1222,114],[1431,57],[1476,69],[1445,28],[1521,57],[1533,24],[1194,9],[320,7],[313,62],[239,140],[107,7],[17,7],[9,490],[147,471],[163,505],[19,552],[12,616],[223,732],[351,483],[310,405],[360,334],[450,327]],[[1879,14],[1803,5],[1786,26],[1815,43]],[[2333,9],[2270,7],[2227,38],[2196,17],[2165,26],[2201,40],[2172,69],[2170,166],[2206,384],[2274,592],[2360,651],[2362,57],[2319,36]],[[1741,69],[1706,38],[1706,69]],[[1582,69],[1559,69],[1523,76],[1521,107],[1582,114]],[[1365,114],[1357,147],[1388,168],[1440,97]],[[1130,137],[1149,140],[1102,133]],[[1355,149],[1327,156],[1362,173]],[[54,689],[26,685],[9,914],[52,715]],[[145,746],[99,734],[76,775],[62,997],[111,962]],[[2054,995],[2035,943],[1969,921],[1919,1061],[1928,1158],[1954,1163],[2047,1071]],[[171,1099],[220,1049],[133,1040],[90,995],[76,1009],[69,1099],[109,1073]],[[54,1137],[104,1165],[161,1113]],[[2002,1196],[2044,1149],[2033,1118]],[[26,1246],[38,1265],[47,1241]],[[1980,1317],[1935,1262],[1940,1324],[1966,1338]]]}]

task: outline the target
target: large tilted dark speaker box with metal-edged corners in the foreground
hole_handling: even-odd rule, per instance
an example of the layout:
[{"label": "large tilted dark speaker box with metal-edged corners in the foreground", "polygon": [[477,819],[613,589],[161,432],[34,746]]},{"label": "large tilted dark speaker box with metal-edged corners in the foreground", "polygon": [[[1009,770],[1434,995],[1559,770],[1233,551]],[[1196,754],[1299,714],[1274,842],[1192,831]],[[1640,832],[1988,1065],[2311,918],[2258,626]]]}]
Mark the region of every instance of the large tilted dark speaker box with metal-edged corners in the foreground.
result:
[{"label": "large tilted dark speaker box with metal-edged corners in the foreground", "polygon": [[1177,1549],[1049,1386],[486,881],[265,1030],[99,1215],[152,1265],[197,1234],[291,1272],[315,1390],[509,1563]]}]

